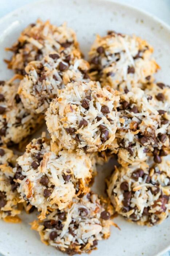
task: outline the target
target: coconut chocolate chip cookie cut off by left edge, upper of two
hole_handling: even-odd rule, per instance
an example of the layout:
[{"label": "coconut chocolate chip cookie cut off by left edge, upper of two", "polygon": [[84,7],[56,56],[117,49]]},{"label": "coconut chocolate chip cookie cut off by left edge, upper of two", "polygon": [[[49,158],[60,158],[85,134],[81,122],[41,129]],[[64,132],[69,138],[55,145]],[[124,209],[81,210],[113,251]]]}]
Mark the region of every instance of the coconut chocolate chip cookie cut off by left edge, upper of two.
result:
[{"label": "coconut chocolate chip cookie cut off by left edge, upper of two", "polygon": [[17,94],[15,76],[9,81],[0,81],[0,143],[11,146],[32,134],[43,121],[43,117],[24,109]]}]

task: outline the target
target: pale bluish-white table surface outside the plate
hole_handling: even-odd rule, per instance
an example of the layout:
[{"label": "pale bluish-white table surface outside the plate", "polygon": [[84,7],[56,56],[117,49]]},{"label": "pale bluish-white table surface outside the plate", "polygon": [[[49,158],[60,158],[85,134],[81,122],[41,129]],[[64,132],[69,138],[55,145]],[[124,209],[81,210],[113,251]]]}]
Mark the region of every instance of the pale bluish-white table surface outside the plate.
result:
[{"label": "pale bluish-white table surface outside the plate", "polygon": [[[35,0],[0,0],[0,18],[17,8],[33,2]],[[117,2],[126,3],[150,12],[170,25],[170,0],[117,0]],[[170,256],[170,251],[162,256]]]}]

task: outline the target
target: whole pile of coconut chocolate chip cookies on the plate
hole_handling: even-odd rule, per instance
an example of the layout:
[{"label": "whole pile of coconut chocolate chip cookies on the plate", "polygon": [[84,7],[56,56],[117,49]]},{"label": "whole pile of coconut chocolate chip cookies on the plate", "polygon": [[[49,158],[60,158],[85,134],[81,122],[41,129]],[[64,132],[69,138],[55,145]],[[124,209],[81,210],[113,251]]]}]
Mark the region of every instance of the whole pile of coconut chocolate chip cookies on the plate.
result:
[{"label": "whole pile of coconut chocolate chip cookies on the plate", "polygon": [[[0,81],[0,218],[39,215],[41,241],[70,255],[110,236],[116,211],[153,226],[170,211],[170,87],[155,82],[153,48],[135,35],[97,36],[83,59],[75,32],[37,20],[7,48],[16,73]],[[24,140],[46,120],[43,132]],[[18,157],[11,147],[24,153]],[[116,157],[107,197],[96,166]],[[105,184],[103,184],[104,186]]]}]

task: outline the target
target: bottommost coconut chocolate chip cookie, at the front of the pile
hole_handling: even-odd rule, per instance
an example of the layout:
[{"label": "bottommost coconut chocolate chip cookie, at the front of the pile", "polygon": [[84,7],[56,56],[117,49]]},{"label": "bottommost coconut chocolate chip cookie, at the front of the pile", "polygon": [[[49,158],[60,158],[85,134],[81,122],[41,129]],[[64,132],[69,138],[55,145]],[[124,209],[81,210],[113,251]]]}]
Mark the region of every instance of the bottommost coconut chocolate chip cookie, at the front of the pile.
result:
[{"label": "bottommost coconut chocolate chip cookie, at the front of the pile", "polygon": [[98,241],[110,236],[111,208],[96,194],[88,193],[73,199],[70,207],[55,210],[44,222],[34,221],[32,229],[39,231],[41,241],[73,255],[95,249]]}]

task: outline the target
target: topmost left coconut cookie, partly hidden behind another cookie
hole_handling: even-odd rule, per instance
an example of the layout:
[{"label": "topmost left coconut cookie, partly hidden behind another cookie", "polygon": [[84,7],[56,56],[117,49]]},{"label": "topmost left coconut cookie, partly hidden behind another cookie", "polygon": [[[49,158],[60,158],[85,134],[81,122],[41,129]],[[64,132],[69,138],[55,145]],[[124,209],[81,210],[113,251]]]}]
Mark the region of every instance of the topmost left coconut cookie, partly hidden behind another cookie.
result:
[{"label": "topmost left coconut cookie, partly hidden behind another cookie", "polygon": [[13,52],[11,60],[7,61],[8,68],[25,75],[24,68],[30,61],[41,60],[46,54],[61,52],[67,47],[79,48],[75,32],[66,23],[57,27],[49,20],[38,19],[21,32],[11,48],[7,48]]}]

